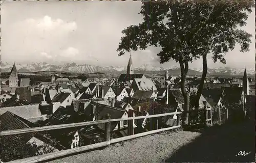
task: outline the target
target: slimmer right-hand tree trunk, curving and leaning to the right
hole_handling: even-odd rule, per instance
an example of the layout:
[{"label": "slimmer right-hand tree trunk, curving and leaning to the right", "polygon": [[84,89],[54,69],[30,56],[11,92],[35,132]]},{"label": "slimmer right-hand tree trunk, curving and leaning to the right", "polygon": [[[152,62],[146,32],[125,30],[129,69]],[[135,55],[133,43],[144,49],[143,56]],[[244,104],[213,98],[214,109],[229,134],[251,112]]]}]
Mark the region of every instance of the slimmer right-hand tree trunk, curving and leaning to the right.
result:
[{"label": "slimmer right-hand tree trunk, curving and leaning to the right", "polygon": [[203,86],[204,86],[204,80],[206,78],[206,75],[207,75],[207,58],[206,58],[206,55],[203,55],[203,72],[202,72],[202,78],[201,78],[201,81],[200,81],[200,85],[198,87],[198,90],[197,90],[197,95],[196,95],[196,98],[194,99],[195,101],[195,110],[196,110],[196,115],[198,117],[198,110],[199,110],[199,99],[201,97],[201,94],[202,94],[202,90],[203,90]]}]

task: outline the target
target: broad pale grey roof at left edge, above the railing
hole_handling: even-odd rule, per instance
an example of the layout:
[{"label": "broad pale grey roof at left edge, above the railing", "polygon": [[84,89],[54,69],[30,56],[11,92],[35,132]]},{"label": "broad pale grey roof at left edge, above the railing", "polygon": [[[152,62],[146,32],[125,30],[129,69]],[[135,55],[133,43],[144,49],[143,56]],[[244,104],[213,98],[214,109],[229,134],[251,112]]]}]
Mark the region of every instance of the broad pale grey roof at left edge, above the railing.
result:
[{"label": "broad pale grey roof at left edge, above the railing", "polygon": [[7,111],[22,117],[31,123],[44,121],[46,119],[46,115],[42,115],[39,110],[39,104],[1,107],[0,114],[2,115]]}]

